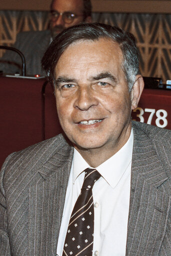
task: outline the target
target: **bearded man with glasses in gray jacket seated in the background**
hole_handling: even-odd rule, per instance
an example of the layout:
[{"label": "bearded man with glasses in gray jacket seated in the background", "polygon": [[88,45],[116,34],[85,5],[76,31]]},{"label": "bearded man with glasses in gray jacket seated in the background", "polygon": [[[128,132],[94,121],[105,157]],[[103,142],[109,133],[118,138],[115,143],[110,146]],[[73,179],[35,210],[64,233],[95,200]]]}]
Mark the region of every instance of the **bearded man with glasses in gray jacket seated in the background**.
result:
[{"label": "bearded man with glasses in gray jacket seated in the background", "polygon": [[[13,46],[25,57],[26,75],[45,75],[41,69],[41,58],[52,38],[62,30],[82,22],[91,22],[90,0],[53,0],[50,5],[49,30],[19,33]],[[21,74],[19,55],[6,51],[0,59],[0,70]]]}]

